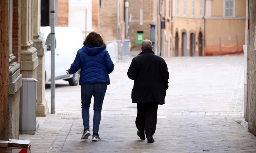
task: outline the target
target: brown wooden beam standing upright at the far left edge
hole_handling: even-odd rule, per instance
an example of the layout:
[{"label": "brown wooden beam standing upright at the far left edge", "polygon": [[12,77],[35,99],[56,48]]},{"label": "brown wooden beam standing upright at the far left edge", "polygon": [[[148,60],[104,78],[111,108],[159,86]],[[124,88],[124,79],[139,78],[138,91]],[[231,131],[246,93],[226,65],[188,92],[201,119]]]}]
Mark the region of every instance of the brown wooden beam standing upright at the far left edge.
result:
[{"label": "brown wooden beam standing upright at the far left edge", "polygon": [[9,5],[0,0],[0,140],[9,141]]}]

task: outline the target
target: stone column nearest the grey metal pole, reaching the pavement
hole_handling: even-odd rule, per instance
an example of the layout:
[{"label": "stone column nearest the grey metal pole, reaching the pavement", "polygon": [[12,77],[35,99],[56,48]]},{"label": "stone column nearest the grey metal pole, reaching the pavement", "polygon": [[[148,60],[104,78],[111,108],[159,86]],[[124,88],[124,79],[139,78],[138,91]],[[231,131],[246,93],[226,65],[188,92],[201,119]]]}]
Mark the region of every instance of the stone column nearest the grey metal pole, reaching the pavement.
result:
[{"label": "stone column nearest the grey metal pole, reaching the pavement", "polygon": [[40,1],[34,0],[34,25],[33,25],[33,42],[37,48],[38,67],[37,67],[37,116],[46,116],[48,114],[47,100],[45,99],[45,52],[46,45],[40,32]]}]

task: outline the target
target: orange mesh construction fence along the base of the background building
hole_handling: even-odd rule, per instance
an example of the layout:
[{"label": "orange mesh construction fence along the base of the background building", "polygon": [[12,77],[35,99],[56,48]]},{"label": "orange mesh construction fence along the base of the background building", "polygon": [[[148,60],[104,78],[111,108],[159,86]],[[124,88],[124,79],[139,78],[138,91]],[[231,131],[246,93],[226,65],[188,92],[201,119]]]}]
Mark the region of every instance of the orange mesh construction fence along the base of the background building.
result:
[{"label": "orange mesh construction fence along the base of the background building", "polygon": [[205,39],[204,55],[225,55],[243,53],[245,35],[212,37]]}]

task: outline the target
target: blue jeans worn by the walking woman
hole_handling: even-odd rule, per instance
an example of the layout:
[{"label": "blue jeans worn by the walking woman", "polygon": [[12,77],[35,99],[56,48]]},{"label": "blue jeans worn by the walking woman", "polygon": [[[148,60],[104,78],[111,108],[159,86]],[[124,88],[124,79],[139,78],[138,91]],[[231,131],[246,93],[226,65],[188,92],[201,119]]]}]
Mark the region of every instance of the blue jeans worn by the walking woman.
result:
[{"label": "blue jeans worn by the walking woman", "polygon": [[93,133],[99,132],[101,108],[105,97],[107,85],[105,83],[97,84],[82,84],[81,85],[81,99],[82,99],[82,117],[84,128],[89,128],[89,108],[91,104],[91,97],[94,97],[94,116],[93,116]]}]

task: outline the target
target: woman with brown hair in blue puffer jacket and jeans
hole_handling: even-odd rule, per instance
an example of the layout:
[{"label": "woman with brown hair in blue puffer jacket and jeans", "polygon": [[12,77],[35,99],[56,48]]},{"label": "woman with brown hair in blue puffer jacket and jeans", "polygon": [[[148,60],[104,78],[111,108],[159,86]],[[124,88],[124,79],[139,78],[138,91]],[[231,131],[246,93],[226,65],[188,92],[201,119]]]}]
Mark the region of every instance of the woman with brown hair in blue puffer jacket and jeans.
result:
[{"label": "woman with brown hair in blue puffer jacket and jeans", "polygon": [[101,108],[107,85],[110,84],[109,74],[114,70],[114,64],[106,50],[106,44],[98,33],[89,33],[83,45],[83,48],[77,52],[70,69],[67,70],[67,74],[74,74],[81,69],[79,84],[81,85],[84,124],[82,139],[88,139],[91,135],[89,108],[91,97],[94,96],[93,141],[99,141]]}]

